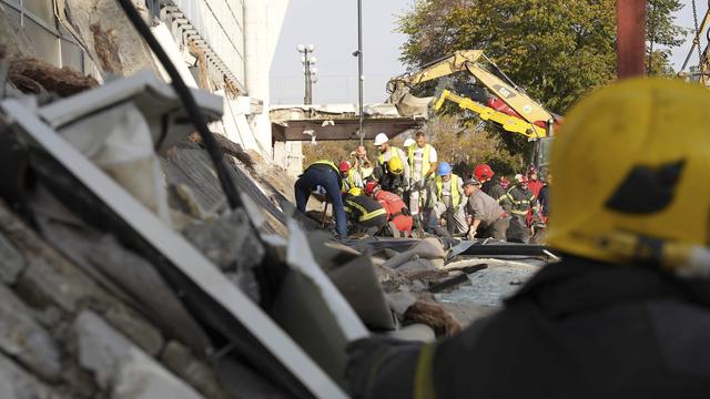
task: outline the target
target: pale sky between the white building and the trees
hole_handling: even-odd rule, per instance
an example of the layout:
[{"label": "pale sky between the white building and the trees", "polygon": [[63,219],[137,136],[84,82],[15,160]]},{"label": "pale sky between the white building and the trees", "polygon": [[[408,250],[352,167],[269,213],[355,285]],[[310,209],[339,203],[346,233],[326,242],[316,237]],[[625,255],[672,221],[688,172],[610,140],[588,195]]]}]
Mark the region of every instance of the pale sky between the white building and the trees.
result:
[{"label": "pale sky between the white building and the trees", "polygon": [[[400,74],[405,66],[399,62],[400,47],[406,37],[396,33],[398,16],[410,10],[414,0],[362,0],[364,100],[383,102],[387,98],[385,84],[389,78]],[[698,23],[708,7],[707,1],[696,0]],[[678,12],[677,23],[693,27],[690,0]],[[704,37],[702,34],[701,37]],[[690,39],[673,50],[672,62],[680,69],[690,49]],[[706,40],[702,40],[704,48]],[[276,55],[271,70],[271,100],[273,104],[302,104],[304,93],[303,65],[298,44],[313,44],[317,58],[318,81],[313,86],[313,102],[357,103],[357,1],[356,0],[291,0],[282,29]],[[697,55],[690,64],[697,63]],[[505,70],[505,66],[503,66]]]}]

